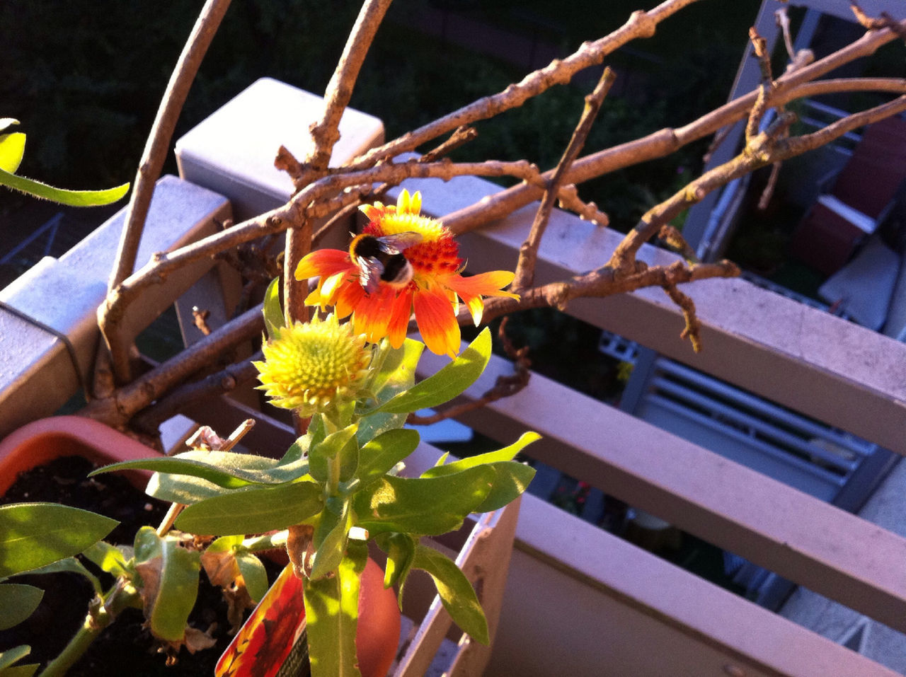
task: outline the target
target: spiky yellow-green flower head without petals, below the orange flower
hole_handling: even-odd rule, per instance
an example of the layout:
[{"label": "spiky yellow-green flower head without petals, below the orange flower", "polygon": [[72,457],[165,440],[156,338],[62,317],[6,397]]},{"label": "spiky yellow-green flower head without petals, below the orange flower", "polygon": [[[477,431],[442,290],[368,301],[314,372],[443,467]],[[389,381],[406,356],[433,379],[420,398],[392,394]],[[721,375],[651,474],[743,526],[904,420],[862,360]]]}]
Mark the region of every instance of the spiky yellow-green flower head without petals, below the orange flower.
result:
[{"label": "spiky yellow-green flower head without petals, below the orange flower", "polygon": [[264,362],[255,362],[259,389],[271,404],[310,416],[337,399],[355,397],[368,375],[371,350],[349,323],[333,315],[296,322],[262,347]]}]

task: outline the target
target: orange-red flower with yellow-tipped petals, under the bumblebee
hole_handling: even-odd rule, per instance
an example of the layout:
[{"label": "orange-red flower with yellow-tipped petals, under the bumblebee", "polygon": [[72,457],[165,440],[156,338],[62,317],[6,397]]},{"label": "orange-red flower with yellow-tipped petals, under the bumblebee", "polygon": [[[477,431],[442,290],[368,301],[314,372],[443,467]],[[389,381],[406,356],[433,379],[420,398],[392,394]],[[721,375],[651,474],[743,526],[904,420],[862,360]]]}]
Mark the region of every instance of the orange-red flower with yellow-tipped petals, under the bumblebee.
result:
[{"label": "orange-red flower with yellow-tipped petals, under the bumblebee", "polygon": [[477,325],[481,321],[485,296],[516,294],[502,291],[511,281],[509,271],[482,272],[470,277],[459,274],[464,262],[459,245],[439,221],[419,214],[421,194],[403,190],[396,205],[365,205],[361,211],[370,219],[362,230],[374,237],[417,233],[418,243],[402,251],[412,267],[412,279],[404,286],[381,281],[369,294],[361,284],[358,262],[349,252],[321,249],[307,254],[295,271],[296,280],[320,277],[317,288],[305,303],[324,309],[333,306],[337,317],[352,315],[356,332],[371,343],[384,337],[400,348],[412,313],[421,338],[438,355],[455,356],[459,351],[456,319],[461,299]]}]

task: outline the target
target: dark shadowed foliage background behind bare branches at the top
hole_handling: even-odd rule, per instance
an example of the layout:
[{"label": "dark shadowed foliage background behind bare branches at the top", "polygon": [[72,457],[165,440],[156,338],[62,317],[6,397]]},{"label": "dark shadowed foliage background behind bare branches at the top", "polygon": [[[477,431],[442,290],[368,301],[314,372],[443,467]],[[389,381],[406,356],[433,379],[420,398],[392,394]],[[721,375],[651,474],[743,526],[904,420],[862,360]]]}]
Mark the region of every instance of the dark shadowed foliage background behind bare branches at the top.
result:
[{"label": "dark shadowed foliage background behind bare branches at the top", "polygon": [[[565,55],[583,40],[621,25],[637,5],[608,3],[604,9],[580,0],[559,5],[399,0],[391,5],[364,64],[352,105],[384,119],[388,138],[393,138],[525,76],[525,59],[498,62],[478,53],[480,47],[467,50],[411,28],[410,17],[421,8],[455,10],[553,44]],[[746,0],[729,12],[713,5],[692,5],[662,24],[651,40],[632,43],[631,51],[612,57],[622,93],[607,101],[589,151],[683,124],[723,100],[758,3]],[[259,77],[323,92],[359,6],[358,0],[231,5],[189,93],[176,137]],[[200,7],[200,2],[122,0],[0,4],[5,52],[0,100],[3,114],[22,120],[30,133],[23,175],[67,187],[129,180]],[[702,20],[706,15],[707,22]],[[455,157],[525,157],[552,167],[594,77],[578,86],[556,87],[499,120],[479,124],[477,141]],[[611,212],[615,226],[624,230],[655,200],[670,194],[679,168],[698,169],[700,151],[693,148],[656,167],[606,176],[583,186],[582,195]],[[172,157],[166,169],[175,172]]]}]

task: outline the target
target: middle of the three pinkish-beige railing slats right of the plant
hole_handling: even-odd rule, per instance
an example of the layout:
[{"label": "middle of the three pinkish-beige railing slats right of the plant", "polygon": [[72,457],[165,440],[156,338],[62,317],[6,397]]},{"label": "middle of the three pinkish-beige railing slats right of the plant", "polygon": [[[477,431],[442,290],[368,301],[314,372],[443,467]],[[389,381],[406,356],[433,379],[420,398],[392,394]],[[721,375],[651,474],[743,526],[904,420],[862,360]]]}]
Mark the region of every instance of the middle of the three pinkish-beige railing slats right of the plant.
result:
[{"label": "middle of the three pinkish-beige railing slats right of the plant", "polygon": [[[419,367],[445,362],[426,355]],[[467,396],[509,372],[492,358]],[[501,442],[535,430],[533,458],[906,631],[906,578],[892,566],[906,539],[885,529],[537,374],[460,420]]]}]

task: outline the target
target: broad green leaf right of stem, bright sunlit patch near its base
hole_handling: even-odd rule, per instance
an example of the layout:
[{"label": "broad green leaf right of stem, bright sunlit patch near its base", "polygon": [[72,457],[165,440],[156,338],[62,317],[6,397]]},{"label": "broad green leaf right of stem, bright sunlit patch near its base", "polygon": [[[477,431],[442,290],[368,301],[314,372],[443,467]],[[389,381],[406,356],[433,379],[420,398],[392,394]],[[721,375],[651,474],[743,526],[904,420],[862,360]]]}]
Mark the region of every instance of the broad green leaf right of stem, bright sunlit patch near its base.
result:
[{"label": "broad green leaf right of stem, bright sunlit patch near its base", "polygon": [[372,534],[447,533],[485,500],[494,477],[487,466],[427,479],[383,477],[355,494],[356,525]]}]

